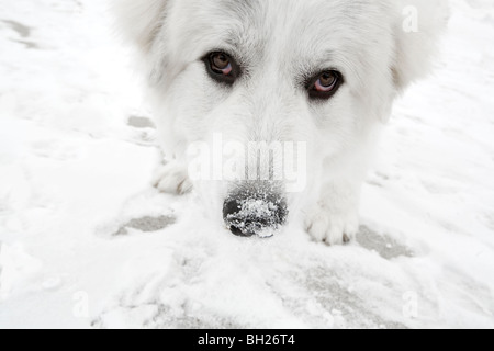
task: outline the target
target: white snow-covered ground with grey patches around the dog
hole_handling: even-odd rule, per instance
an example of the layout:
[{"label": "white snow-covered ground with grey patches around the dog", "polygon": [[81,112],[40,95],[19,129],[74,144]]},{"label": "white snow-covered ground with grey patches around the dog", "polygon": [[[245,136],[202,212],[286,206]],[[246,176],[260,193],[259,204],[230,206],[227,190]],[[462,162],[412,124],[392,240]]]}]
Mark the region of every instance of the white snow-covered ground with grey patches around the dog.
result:
[{"label": "white snow-covered ground with grey patches around the dog", "polygon": [[494,3],[454,0],[395,107],[358,242],[242,239],[150,185],[103,1],[0,0],[0,328],[494,328]]}]

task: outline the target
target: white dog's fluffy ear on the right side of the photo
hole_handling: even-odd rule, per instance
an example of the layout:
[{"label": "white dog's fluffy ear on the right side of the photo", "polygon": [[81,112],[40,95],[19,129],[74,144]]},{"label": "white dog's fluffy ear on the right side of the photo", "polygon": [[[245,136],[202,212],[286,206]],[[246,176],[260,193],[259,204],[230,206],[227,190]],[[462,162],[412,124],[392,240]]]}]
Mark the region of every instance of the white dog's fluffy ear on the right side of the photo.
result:
[{"label": "white dog's fluffy ear on the right side of the photo", "polygon": [[439,37],[449,19],[447,0],[398,0],[396,23],[396,53],[393,76],[396,89],[402,92],[430,71]]}]

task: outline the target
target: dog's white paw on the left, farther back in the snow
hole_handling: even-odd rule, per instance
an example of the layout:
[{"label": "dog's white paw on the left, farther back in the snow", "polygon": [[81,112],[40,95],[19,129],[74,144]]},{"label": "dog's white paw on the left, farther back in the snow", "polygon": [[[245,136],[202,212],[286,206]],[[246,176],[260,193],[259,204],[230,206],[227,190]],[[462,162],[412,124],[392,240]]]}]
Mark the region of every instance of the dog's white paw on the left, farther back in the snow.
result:
[{"label": "dog's white paw on the left, farther back in the snow", "polygon": [[187,169],[177,161],[160,166],[153,179],[153,185],[160,192],[177,195],[187,194],[192,190]]}]

